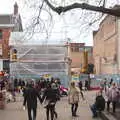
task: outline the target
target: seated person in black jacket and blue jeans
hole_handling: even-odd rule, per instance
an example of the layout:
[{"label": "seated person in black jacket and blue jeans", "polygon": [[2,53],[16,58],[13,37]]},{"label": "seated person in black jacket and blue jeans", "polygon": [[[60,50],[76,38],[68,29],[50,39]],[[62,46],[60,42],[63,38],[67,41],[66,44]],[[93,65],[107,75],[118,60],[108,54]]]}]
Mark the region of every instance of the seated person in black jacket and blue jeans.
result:
[{"label": "seated person in black jacket and blue jeans", "polygon": [[97,117],[97,111],[101,112],[105,109],[105,99],[102,95],[102,91],[99,91],[96,95],[95,102],[90,106],[93,113],[93,117]]}]

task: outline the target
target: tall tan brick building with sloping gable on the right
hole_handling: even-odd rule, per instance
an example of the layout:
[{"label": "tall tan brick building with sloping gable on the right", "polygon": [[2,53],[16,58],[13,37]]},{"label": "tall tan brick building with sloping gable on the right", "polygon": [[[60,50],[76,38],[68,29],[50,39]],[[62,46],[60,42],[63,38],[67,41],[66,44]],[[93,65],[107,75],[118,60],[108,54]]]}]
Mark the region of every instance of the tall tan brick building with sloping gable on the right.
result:
[{"label": "tall tan brick building with sloping gable on the right", "polygon": [[93,32],[96,74],[117,74],[120,69],[120,19],[107,15]]}]

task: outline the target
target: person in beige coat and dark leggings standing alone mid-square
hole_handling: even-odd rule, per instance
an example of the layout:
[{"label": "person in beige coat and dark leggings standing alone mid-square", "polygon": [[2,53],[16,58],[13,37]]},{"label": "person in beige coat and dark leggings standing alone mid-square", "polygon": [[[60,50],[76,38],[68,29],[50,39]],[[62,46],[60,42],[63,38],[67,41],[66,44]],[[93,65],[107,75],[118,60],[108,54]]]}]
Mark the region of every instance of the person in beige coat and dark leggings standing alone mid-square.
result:
[{"label": "person in beige coat and dark leggings standing alone mid-square", "polygon": [[81,96],[84,100],[83,93],[75,86],[75,82],[71,82],[70,89],[68,91],[68,102],[71,104],[71,112],[73,117],[78,116],[76,112],[78,109],[79,93],[81,93]]}]

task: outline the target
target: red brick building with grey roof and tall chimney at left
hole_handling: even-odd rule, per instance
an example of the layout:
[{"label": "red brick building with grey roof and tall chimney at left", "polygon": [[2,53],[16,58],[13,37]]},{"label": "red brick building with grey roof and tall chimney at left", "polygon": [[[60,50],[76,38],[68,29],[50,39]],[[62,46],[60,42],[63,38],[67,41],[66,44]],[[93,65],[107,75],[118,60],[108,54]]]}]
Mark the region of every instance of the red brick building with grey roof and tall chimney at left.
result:
[{"label": "red brick building with grey roof and tall chimney at left", "polygon": [[12,14],[0,15],[0,71],[9,71],[9,37],[12,31],[23,31],[17,3]]}]

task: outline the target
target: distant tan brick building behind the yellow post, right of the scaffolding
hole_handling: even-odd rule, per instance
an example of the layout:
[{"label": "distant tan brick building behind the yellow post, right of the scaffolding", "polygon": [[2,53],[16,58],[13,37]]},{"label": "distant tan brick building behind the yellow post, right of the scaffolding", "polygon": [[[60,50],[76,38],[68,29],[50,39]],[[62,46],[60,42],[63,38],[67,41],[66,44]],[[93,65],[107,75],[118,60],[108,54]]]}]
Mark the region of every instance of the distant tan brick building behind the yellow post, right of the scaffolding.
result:
[{"label": "distant tan brick building behind the yellow post, right of the scaffolding", "polygon": [[84,52],[88,52],[87,64],[93,62],[93,47],[85,46],[85,43],[70,43],[71,70],[80,72],[85,66]]}]

